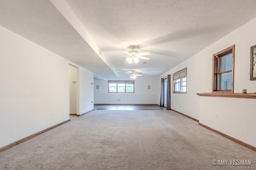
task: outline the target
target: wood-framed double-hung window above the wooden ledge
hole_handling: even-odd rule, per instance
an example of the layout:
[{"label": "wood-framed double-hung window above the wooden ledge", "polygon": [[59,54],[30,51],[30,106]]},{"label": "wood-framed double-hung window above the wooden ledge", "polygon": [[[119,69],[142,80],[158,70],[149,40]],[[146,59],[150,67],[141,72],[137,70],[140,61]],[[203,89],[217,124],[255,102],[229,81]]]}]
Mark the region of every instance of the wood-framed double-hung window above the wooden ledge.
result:
[{"label": "wood-framed double-hung window above the wooden ledge", "polygon": [[212,93],[234,93],[235,45],[212,55]]}]

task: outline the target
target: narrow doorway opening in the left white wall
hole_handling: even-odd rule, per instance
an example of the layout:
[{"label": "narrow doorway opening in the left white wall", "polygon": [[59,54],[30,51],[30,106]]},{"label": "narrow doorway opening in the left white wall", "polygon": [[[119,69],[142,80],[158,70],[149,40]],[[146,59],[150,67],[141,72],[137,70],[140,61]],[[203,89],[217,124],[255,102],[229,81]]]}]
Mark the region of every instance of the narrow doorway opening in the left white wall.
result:
[{"label": "narrow doorway opening in the left white wall", "polygon": [[69,64],[69,115],[79,113],[79,68]]}]

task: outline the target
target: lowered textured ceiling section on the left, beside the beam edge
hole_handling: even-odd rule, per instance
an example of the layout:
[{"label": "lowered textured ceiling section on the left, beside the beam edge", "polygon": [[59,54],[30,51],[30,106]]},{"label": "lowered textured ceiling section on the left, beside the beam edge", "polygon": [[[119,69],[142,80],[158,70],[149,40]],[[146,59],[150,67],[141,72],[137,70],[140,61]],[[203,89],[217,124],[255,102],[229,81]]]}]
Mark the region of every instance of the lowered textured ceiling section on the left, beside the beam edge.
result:
[{"label": "lowered textured ceiling section on the left, beside the beam edge", "polygon": [[48,0],[0,0],[0,25],[90,70],[116,76]]}]

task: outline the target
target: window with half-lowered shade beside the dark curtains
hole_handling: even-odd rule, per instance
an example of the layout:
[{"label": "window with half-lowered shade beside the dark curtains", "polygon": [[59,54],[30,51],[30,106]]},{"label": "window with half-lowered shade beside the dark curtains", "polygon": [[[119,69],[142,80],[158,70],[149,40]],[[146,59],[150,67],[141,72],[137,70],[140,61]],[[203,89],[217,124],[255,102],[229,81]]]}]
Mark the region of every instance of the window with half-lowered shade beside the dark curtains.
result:
[{"label": "window with half-lowered shade beside the dark curtains", "polygon": [[187,68],[173,74],[173,93],[187,93]]}]

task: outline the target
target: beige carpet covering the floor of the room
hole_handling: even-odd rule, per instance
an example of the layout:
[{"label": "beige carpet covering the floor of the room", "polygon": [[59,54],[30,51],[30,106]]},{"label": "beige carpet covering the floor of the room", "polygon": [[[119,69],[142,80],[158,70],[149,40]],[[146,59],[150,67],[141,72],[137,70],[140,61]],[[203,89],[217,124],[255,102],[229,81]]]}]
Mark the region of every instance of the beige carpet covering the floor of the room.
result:
[{"label": "beige carpet covering the floor of the room", "polygon": [[[174,111],[95,110],[0,152],[0,170],[256,169],[256,152]],[[212,160],[251,166],[213,166]]]}]

